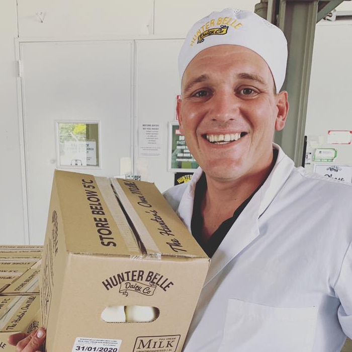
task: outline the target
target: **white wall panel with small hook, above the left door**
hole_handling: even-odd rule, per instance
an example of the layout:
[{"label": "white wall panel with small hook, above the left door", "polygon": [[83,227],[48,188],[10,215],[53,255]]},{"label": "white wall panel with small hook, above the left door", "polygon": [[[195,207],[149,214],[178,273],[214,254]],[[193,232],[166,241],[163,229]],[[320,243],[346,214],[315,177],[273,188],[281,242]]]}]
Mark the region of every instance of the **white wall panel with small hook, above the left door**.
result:
[{"label": "white wall panel with small hook, above the left door", "polygon": [[148,35],[153,0],[18,0],[20,37]]}]

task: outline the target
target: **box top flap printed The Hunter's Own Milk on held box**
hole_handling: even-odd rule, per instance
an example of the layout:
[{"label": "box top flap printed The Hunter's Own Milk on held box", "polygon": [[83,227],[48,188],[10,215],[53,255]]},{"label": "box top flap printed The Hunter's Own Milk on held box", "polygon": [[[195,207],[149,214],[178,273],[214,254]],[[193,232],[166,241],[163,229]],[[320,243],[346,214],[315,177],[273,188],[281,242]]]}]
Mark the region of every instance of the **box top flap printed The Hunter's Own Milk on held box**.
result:
[{"label": "box top flap printed The Hunter's Own Milk on held box", "polygon": [[124,179],[111,183],[148,254],[207,258],[154,184]]}]

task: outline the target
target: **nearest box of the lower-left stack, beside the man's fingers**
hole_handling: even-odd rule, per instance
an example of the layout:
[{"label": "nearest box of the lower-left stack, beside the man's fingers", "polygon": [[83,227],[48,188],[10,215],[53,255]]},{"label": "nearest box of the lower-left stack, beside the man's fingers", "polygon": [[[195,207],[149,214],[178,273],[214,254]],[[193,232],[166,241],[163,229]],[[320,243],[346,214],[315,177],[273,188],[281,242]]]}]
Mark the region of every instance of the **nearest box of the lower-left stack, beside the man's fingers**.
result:
[{"label": "nearest box of the lower-left stack, beside the man's fingers", "polygon": [[16,332],[30,333],[41,326],[39,295],[0,297],[0,350],[15,352],[8,337]]}]

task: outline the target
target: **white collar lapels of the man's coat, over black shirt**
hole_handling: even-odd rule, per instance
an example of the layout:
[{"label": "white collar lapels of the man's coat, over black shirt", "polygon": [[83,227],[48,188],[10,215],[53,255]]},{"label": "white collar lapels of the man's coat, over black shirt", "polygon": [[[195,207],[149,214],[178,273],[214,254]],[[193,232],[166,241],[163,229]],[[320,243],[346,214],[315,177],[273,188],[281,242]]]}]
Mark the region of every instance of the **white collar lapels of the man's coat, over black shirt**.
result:
[{"label": "white collar lapels of the man's coat, over black shirt", "polygon": [[[284,153],[279,145],[273,143],[279,150],[278,158],[265,183],[256,192],[238,219],[232,225],[228,234],[214,253],[205,285],[207,285],[243,248],[252,242],[259,234],[258,218],[265,212],[277,193],[288,179],[293,167],[293,161]],[[179,216],[191,231],[194,193],[203,170],[198,168],[185,190],[179,205]]]}]

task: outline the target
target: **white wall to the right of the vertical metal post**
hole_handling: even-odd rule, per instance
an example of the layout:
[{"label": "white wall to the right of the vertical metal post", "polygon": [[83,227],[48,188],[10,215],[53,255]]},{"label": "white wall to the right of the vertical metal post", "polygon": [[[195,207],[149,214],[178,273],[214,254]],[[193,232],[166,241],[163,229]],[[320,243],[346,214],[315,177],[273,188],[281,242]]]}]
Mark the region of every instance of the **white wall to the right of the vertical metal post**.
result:
[{"label": "white wall to the right of the vertical metal post", "polygon": [[[351,11],[351,2],[337,11]],[[329,130],[352,130],[352,21],[320,21],[316,26],[305,135],[307,151],[335,148],[335,164],[352,164],[352,144],[327,144]],[[317,162],[319,164],[319,162]],[[313,170],[314,163],[306,165]]]}]

